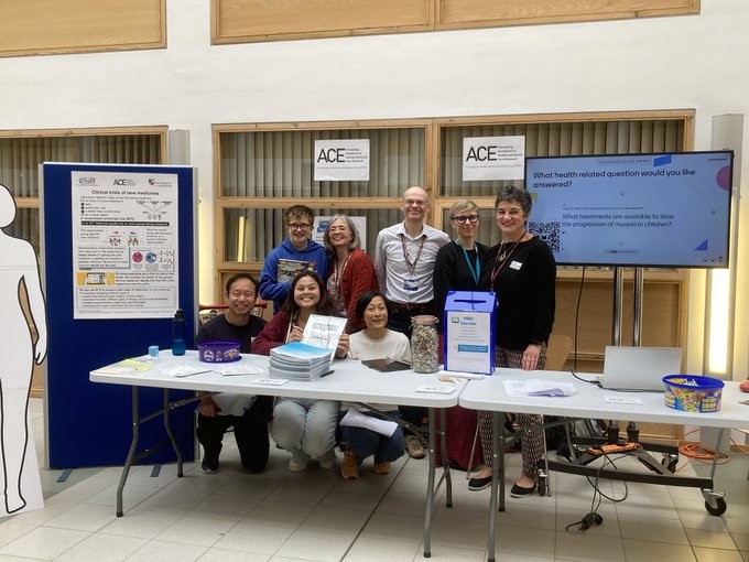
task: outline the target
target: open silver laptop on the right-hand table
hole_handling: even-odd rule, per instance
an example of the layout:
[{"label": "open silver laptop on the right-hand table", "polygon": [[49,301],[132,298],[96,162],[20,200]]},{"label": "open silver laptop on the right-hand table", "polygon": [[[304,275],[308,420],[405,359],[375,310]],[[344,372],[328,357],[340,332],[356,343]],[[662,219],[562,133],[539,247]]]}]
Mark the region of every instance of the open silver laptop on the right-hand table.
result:
[{"label": "open silver laptop on the right-hand table", "polygon": [[681,347],[606,346],[601,387],[663,392],[663,377],[682,370]]}]

